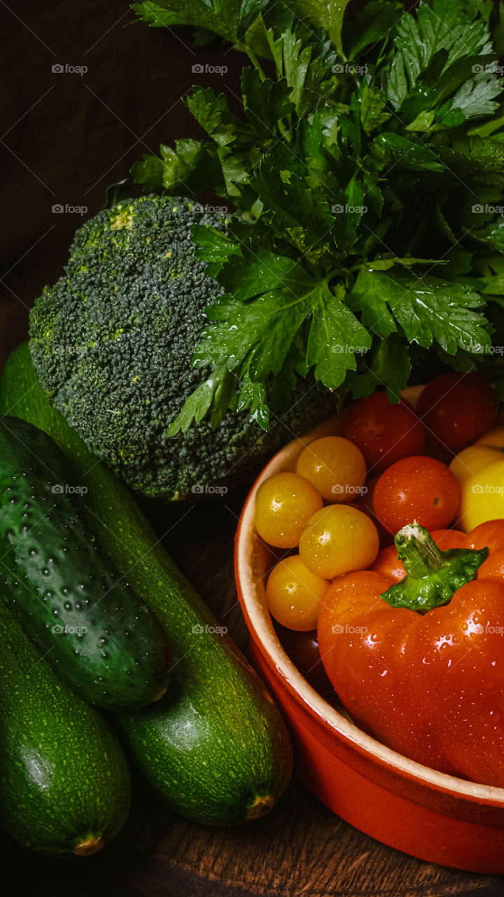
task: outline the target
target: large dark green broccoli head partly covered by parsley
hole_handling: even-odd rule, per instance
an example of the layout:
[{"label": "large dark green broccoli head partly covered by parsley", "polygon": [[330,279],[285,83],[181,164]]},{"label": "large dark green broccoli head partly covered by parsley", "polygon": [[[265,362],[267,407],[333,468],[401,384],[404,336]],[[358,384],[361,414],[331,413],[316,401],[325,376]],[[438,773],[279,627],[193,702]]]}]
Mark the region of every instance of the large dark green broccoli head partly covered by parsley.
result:
[{"label": "large dark green broccoli head partly covered by parsley", "polygon": [[270,431],[228,413],[169,438],[165,431],[204,377],[191,356],[204,309],[220,287],[190,239],[195,223],[225,229],[222,215],[168,196],[105,209],[76,232],[65,276],[30,314],[30,351],[49,401],[88,448],[137,492],[185,498],[238,483],[294,434],[329,413],[328,393],[301,385]]}]

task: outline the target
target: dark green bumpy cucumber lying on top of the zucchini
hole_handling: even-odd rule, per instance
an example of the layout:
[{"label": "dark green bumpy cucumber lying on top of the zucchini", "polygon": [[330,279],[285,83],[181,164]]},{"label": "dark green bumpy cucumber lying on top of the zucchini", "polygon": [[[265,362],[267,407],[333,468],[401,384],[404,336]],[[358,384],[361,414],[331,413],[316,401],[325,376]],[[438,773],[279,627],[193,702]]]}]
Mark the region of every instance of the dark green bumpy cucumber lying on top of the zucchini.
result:
[{"label": "dark green bumpy cucumber lying on top of the zucchini", "polygon": [[70,475],[45,432],[0,421],[1,597],[86,701],[144,707],[168,684],[166,633],[96,544],[78,501],[53,492]]}]

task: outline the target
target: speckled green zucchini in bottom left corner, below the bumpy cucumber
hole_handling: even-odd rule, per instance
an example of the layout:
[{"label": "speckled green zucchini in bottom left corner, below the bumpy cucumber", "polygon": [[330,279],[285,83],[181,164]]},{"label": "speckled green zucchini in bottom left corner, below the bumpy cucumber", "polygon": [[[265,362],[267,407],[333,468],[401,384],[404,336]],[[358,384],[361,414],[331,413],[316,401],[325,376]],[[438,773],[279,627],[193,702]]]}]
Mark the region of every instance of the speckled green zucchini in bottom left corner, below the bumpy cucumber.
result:
[{"label": "speckled green zucchini in bottom left corner, below the bumpy cucumber", "polygon": [[109,723],[60,682],[0,603],[0,825],[23,847],[73,853],[126,822],[130,777]]}]

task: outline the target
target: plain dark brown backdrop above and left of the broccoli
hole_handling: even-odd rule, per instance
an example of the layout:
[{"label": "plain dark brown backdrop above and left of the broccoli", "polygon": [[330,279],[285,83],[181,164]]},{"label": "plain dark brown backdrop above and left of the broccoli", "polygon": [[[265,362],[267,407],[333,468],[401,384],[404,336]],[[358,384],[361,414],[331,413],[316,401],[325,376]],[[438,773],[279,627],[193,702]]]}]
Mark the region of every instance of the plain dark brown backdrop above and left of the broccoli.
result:
[{"label": "plain dark brown backdrop above and left of the broccoli", "polygon": [[[243,57],[191,45],[191,31],[135,22],[124,0],[0,3],[0,367],[25,338],[28,309],[62,274],[75,228],[104,205],[106,188],[126,178],[143,153],[175,137],[199,136],[181,98],[192,65],[227,65],[198,74],[215,91],[239,91]],[[87,66],[85,74],[53,65]],[[53,213],[53,205],[87,213]]]}]

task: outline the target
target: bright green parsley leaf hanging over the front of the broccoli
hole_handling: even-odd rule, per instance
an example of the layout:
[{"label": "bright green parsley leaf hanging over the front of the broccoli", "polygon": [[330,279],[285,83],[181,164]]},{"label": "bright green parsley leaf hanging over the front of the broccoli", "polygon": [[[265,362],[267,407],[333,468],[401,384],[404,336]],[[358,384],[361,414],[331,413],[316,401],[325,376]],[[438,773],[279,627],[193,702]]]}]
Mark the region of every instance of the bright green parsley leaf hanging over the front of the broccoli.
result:
[{"label": "bright green parsley leaf hanging over the front of the broccoli", "polygon": [[[264,405],[265,392],[257,392],[252,384],[264,383],[269,375],[280,373],[307,318],[306,367],[315,368],[316,378],[329,389],[341,386],[346,371],[356,368],[355,354],[366,352],[371,343],[366,328],[345,307],[343,295],[336,296],[326,280],[314,280],[291,259],[271,254],[252,263],[248,280],[235,296],[223,296],[207,309],[207,316],[211,323],[204,329],[204,341],[196,346],[193,361],[203,367],[219,359],[220,378],[224,365],[237,375],[246,370],[246,392],[240,392],[239,408],[252,403],[252,414],[261,425],[265,412],[263,408],[256,415],[256,403],[260,398],[259,404]],[[204,388],[199,388],[196,400],[195,396],[187,399],[171,424],[170,434],[197,421],[200,407],[204,407],[204,413],[211,407],[214,388],[214,383],[207,381]]]}]

